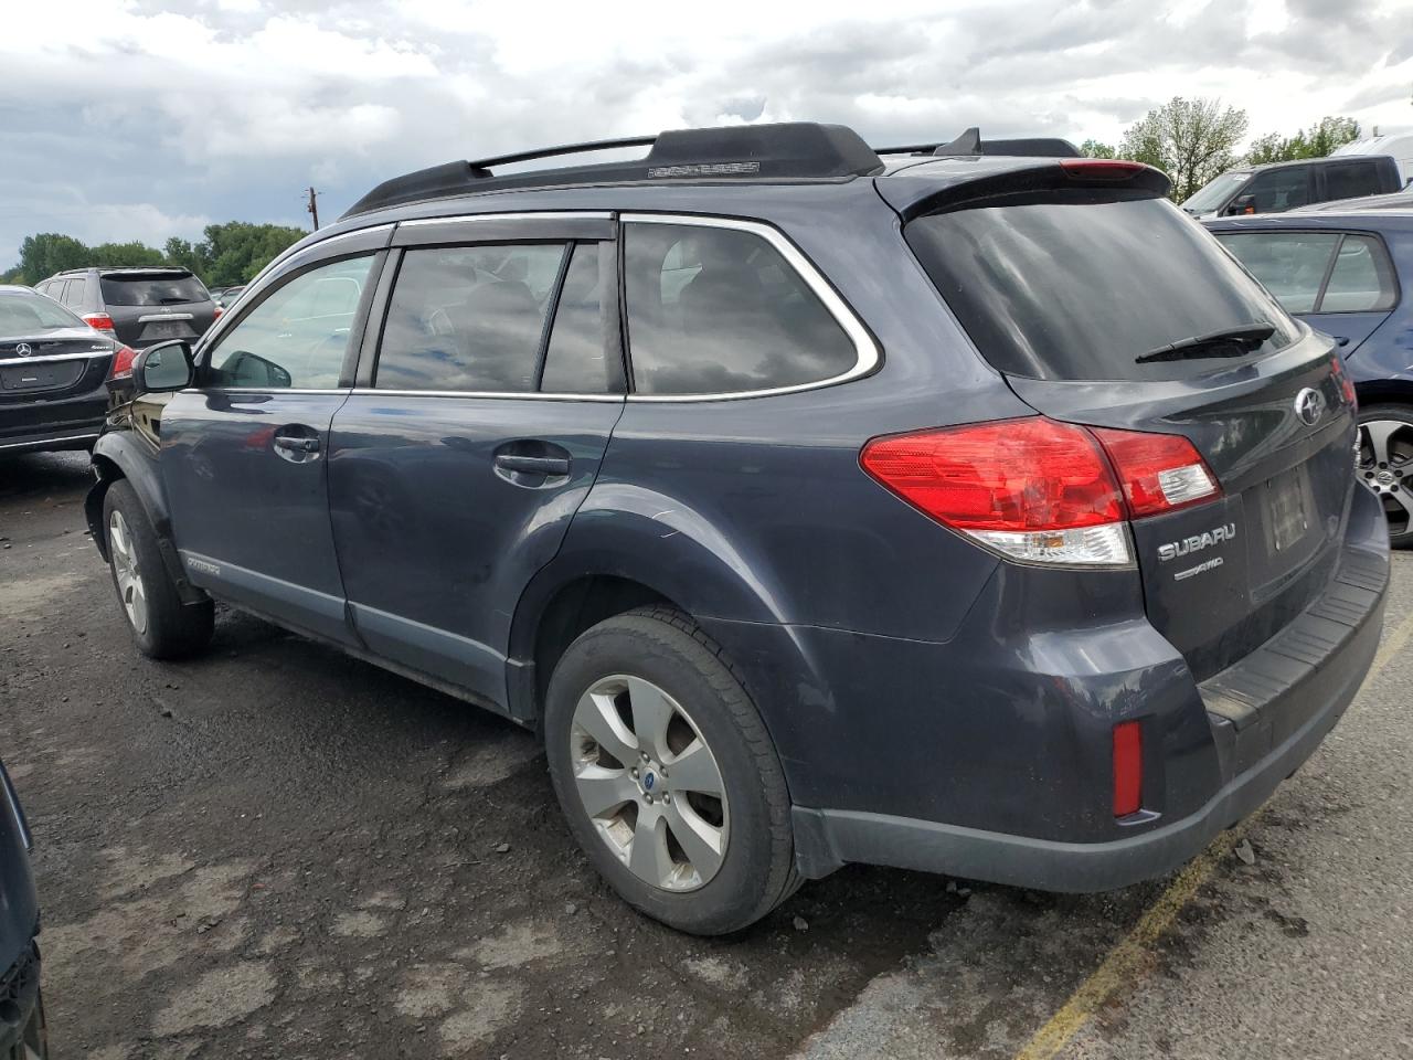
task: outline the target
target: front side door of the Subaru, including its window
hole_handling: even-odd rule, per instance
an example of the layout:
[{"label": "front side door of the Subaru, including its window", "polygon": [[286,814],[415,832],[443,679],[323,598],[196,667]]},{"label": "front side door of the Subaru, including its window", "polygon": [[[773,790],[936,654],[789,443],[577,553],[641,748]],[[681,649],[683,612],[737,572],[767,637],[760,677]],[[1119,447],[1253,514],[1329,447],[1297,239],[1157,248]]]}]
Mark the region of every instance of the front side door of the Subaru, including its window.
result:
[{"label": "front side door of the Subaru, including its window", "polygon": [[198,355],[161,411],[172,533],[196,585],[357,644],[329,529],[328,447],[390,230],[291,259]]}]

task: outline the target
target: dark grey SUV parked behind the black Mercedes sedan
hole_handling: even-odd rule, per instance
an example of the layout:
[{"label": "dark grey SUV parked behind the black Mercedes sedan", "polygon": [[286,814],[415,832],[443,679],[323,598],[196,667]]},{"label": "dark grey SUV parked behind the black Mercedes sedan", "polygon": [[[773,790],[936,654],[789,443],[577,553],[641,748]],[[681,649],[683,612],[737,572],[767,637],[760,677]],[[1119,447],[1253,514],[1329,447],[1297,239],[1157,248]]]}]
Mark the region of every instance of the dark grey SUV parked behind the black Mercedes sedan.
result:
[{"label": "dark grey SUV parked behind the black Mercedes sedan", "polygon": [[133,349],[198,339],[220,315],[205,284],[187,269],[71,269],[35,290]]}]

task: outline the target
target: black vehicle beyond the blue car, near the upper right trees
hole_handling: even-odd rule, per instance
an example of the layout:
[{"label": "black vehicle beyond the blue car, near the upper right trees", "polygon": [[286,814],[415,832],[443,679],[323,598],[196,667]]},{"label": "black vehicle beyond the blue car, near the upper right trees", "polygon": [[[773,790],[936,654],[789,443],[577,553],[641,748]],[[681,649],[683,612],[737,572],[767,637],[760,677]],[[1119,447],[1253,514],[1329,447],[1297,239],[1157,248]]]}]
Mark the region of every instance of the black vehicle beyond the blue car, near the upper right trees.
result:
[{"label": "black vehicle beyond the blue car, near the upper right trees", "polygon": [[1388,154],[1301,158],[1228,170],[1183,204],[1194,218],[1283,213],[1313,202],[1385,195],[1403,187],[1399,164]]}]

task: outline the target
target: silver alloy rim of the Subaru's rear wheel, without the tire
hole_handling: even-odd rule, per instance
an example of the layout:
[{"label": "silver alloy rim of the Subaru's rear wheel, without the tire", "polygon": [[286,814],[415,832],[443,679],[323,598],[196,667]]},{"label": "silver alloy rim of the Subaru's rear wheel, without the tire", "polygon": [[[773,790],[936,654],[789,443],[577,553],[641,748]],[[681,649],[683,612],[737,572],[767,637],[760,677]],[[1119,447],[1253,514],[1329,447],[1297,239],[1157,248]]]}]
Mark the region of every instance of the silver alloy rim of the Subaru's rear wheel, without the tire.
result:
[{"label": "silver alloy rim of the Subaru's rear wheel, without the tire", "polygon": [[725,784],[677,700],[640,677],[605,677],[579,697],[569,742],[579,801],[634,876],[684,892],[716,875],[729,841]]}]

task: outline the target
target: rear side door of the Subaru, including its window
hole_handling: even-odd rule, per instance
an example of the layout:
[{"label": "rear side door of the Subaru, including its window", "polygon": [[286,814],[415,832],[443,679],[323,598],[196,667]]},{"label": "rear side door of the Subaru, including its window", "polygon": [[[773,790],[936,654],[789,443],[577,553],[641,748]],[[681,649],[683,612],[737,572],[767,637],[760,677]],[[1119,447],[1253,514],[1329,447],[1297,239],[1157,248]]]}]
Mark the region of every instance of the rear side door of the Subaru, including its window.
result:
[{"label": "rear side door of the Subaru, including its window", "polygon": [[382,657],[503,705],[516,605],[623,408],[613,222],[411,223],[394,246],[376,359],[365,342],[333,417],[349,611]]}]

